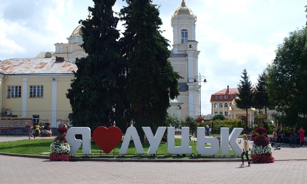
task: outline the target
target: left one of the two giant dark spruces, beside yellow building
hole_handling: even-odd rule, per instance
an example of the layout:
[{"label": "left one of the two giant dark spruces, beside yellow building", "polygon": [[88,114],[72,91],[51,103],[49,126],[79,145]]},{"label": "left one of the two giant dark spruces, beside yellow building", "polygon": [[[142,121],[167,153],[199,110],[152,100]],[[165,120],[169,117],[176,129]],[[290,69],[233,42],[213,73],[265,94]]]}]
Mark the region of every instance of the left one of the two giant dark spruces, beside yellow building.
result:
[{"label": "left one of the two giant dark spruces, beside yellow building", "polygon": [[[89,7],[91,19],[80,20],[86,58],[76,60],[78,70],[74,73],[67,98],[73,110],[74,126],[109,126],[115,113],[123,111],[120,93],[124,83],[123,58],[119,54],[118,18],[113,16],[112,6],[116,0],[93,0]],[[122,116],[117,116],[121,118]]]}]

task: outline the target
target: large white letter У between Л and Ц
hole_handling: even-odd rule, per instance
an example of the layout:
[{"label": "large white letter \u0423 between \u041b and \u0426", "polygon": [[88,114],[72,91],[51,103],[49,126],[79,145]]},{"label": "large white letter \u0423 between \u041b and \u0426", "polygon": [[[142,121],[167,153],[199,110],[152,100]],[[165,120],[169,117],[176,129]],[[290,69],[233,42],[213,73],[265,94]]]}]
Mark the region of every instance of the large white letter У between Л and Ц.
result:
[{"label": "large white letter \u0423 between \u041b and \u0426", "polygon": [[158,127],[158,130],[156,132],[156,135],[155,137],[153,136],[153,133],[150,129],[150,127],[142,127],[144,132],[145,132],[145,135],[146,135],[146,138],[149,142],[149,149],[147,151],[147,154],[154,154],[157,152],[157,149],[161,143],[161,140],[162,140],[162,137],[164,135],[164,132],[166,130],[166,127],[165,126],[161,126],[161,127]]}]

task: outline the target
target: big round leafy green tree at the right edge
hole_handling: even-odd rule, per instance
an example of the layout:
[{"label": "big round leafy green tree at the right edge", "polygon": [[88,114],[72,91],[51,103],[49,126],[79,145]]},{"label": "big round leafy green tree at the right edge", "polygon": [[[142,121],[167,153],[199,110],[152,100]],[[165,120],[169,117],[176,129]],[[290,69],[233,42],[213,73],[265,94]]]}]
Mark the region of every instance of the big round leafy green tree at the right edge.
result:
[{"label": "big round leafy green tree at the right edge", "polygon": [[307,114],[307,28],[290,32],[267,67],[270,103],[295,121]]}]

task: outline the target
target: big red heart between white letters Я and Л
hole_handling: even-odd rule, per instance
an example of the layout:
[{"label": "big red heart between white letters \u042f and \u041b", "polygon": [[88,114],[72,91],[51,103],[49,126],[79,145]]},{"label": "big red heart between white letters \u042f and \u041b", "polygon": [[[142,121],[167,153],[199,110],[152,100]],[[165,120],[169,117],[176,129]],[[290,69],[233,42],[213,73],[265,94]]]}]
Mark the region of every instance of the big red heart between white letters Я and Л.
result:
[{"label": "big red heart between white letters \u042f and \u041b", "polygon": [[104,126],[97,127],[93,132],[94,142],[108,154],[120,143],[122,138],[121,130],[116,126],[106,128]]}]

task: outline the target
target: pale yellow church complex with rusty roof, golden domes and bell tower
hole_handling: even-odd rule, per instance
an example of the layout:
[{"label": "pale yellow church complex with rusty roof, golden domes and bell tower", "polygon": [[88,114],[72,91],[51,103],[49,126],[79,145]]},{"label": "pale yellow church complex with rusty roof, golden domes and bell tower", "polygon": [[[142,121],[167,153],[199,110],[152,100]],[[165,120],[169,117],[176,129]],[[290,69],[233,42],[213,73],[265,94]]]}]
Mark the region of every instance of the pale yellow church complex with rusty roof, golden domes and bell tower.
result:
[{"label": "pale yellow church complex with rusty roof, golden domes and bell tower", "polygon": [[[170,100],[168,113],[182,119],[188,115],[196,118],[200,114],[200,88],[193,83],[198,75],[200,53],[196,21],[197,16],[186,6],[185,0],[171,17],[173,49],[169,61],[183,79],[179,80],[180,95]],[[16,121],[30,119],[32,123],[50,122],[51,127],[63,123],[69,125],[72,109],[66,93],[74,78],[73,71],[77,71],[76,58],[87,56],[80,47],[82,26],[74,29],[67,38],[68,43],[56,43],[55,52],[41,52],[35,58],[0,61],[1,122],[3,118],[16,118]],[[1,122],[0,126],[3,125]]]}]

